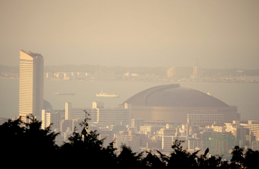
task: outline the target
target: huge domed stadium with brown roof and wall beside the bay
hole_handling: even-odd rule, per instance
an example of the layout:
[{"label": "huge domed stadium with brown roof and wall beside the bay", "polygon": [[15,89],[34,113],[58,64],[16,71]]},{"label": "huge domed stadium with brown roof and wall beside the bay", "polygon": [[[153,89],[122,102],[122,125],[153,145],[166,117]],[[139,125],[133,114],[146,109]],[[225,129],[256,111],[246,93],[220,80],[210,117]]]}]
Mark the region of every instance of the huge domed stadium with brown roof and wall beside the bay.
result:
[{"label": "huge domed stadium with brown roof and wall beside the bay", "polygon": [[145,121],[186,122],[187,114],[223,114],[224,122],[240,119],[236,106],[229,106],[215,97],[179,84],[143,90],[122,105],[125,103],[131,105],[132,119]]}]

